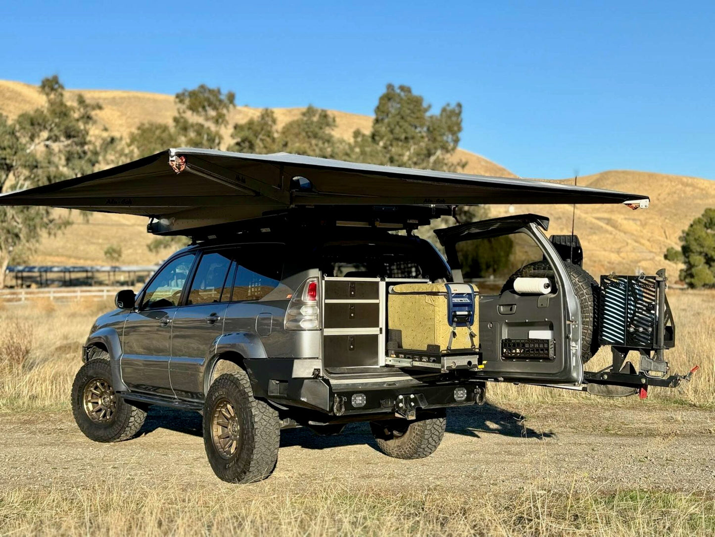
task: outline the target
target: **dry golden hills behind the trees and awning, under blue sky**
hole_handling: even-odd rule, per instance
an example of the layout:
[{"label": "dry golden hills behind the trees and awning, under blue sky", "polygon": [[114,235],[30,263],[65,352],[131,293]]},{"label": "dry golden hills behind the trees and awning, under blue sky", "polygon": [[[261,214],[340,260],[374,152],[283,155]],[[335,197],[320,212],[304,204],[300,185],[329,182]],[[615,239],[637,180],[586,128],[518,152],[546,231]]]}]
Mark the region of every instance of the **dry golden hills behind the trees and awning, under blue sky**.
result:
[{"label": "dry golden hills behind the trees and awning, under blue sky", "polygon": [[[102,104],[97,112],[99,122],[108,132],[126,136],[144,121],[171,122],[174,100],[171,95],[113,90],[69,90],[69,95],[81,92],[90,101]],[[42,104],[36,86],[20,82],[0,81],[0,113],[15,117]],[[279,127],[295,119],[302,108],[274,109]],[[257,108],[237,107],[230,125],[255,117]],[[372,118],[348,112],[331,111],[335,115],[336,135],[350,138],[355,129],[370,130]],[[456,158],[468,162],[465,172],[483,175],[513,174],[490,160],[465,150]],[[576,233],[581,237],[586,255],[586,269],[593,274],[616,271],[632,274],[640,269],[652,272],[666,266],[675,276],[677,267],[663,260],[669,246],[678,245],[678,237],[690,221],[704,208],[715,206],[715,182],[637,171],[614,170],[578,179],[581,185],[646,194],[651,208],[631,211],[621,205],[580,205],[576,208]],[[533,212],[551,217],[551,233],[571,231],[570,205],[518,205],[513,208],[493,206],[493,216],[508,212]],[[104,248],[109,244],[122,246],[121,263],[148,264],[159,261],[161,254],[147,251],[151,237],[146,233],[144,218],[95,214],[89,222],[74,216],[76,225],[54,238],[46,238],[31,258],[33,263],[107,264]],[[165,252],[168,253],[168,252]]]}]

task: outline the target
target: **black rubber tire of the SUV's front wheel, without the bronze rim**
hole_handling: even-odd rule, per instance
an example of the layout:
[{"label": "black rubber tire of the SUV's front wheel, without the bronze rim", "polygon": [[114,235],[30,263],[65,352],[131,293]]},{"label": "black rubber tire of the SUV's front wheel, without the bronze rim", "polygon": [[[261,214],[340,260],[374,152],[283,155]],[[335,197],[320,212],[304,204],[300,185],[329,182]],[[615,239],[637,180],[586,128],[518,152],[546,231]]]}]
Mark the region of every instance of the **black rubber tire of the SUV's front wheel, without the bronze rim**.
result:
[{"label": "black rubber tire of the SUV's front wheel, without the bronze rim", "polygon": [[112,367],[107,352],[94,353],[94,358],[86,362],[74,377],[72,383],[72,414],[79,430],[95,442],[120,442],[129,440],[139,432],[147,418],[143,408],[136,407],[114,394],[114,412],[106,421],[96,421],[85,410],[85,390],[88,384],[97,379],[107,382],[112,388]]}]

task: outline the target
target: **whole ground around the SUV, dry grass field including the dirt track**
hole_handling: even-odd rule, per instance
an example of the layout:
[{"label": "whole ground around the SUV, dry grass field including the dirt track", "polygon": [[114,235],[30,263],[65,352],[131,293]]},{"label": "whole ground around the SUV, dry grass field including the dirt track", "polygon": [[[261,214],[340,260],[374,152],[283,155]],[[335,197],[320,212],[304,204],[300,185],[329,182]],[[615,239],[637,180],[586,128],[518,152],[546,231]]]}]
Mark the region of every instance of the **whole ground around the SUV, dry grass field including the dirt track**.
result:
[{"label": "whole ground around the SUV, dry grass field including the dirt track", "polygon": [[669,297],[671,366],[701,365],[679,390],[639,401],[493,385],[488,405],[450,414],[428,459],[376,453],[360,424],[339,437],[292,430],[276,475],[245,486],[210,472],[198,415],[150,412],[142,437],[117,445],[77,430],[71,381],[109,304],[7,304],[0,535],[711,535],[715,294]]}]

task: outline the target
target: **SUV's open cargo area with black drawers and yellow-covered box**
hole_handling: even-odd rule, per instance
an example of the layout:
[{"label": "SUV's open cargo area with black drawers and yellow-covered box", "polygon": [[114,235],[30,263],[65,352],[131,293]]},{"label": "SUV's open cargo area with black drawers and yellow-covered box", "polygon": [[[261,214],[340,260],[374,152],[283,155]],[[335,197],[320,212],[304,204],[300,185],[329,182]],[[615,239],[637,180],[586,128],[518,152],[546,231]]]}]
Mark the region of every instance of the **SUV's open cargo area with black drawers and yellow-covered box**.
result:
[{"label": "SUV's open cargo area with black drawers and yellow-covered box", "polygon": [[479,364],[478,292],[426,279],[325,277],[323,367],[431,372]]}]

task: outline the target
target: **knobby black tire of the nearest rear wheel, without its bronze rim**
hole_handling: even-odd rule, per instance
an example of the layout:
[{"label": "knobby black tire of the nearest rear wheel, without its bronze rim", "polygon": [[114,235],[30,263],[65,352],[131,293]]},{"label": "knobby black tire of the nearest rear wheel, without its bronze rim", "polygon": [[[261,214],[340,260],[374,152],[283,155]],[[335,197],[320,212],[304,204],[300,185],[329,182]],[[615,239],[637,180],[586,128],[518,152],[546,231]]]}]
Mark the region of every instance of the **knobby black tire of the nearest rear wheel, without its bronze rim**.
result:
[{"label": "knobby black tire of the nearest rear wheel, without its bronze rim", "polygon": [[[214,415],[230,404],[240,427],[234,453],[221,453],[214,439]],[[245,371],[222,374],[209,388],[204,403],[204,448],[211,468],[228,483],[255,483],[267,478],[278,460],[280,420],[266,402],[254,399]]]}]

